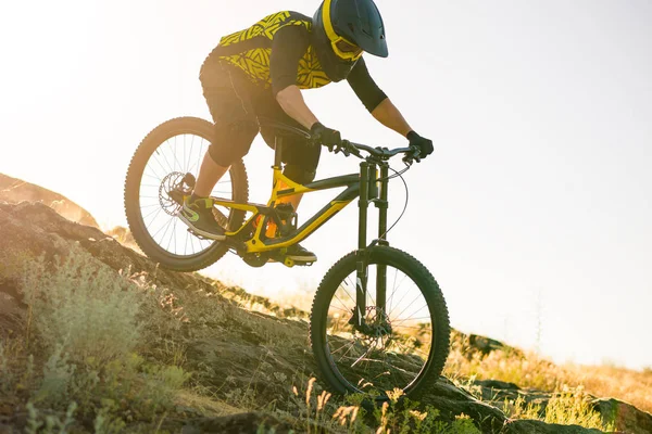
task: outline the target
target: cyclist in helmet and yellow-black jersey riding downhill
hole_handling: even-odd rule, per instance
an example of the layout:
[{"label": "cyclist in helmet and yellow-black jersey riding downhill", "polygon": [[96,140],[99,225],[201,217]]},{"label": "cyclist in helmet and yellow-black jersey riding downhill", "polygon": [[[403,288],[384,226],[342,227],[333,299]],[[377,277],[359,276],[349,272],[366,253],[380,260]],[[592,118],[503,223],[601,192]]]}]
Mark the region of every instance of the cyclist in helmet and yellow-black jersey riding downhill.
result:
[{"label": "cyclist in helmet and yellow-black jersey riding downhill", "polygon": [[[373,0],[325,0],[312,20],[283,11],[223,37],[200,72],[203,94],[215,123],[214,139],[179,218],[200,235],[225,239],[209,196],[230,165],[249,152],[259,132],[268,145],[274,145],[274,131],[261,128],[259,116],[310,131],[322,144],[340,143],[339,131],[319,123],[300,89],[346,79],[380,124],[417,145],[421,157],[430,154],[432,142],[418,136],[378,88],[363,52],[388,56],[383,18]],[[311,182],[319,153],[321,148],[309,145],[305,139],[284,141],[284,175],[298,183]],[[285,202],[297,209],[300,200],[297,194]],[[294,261],[316,260],[315,254],[299,244],[289,247],[286,256]]]}]

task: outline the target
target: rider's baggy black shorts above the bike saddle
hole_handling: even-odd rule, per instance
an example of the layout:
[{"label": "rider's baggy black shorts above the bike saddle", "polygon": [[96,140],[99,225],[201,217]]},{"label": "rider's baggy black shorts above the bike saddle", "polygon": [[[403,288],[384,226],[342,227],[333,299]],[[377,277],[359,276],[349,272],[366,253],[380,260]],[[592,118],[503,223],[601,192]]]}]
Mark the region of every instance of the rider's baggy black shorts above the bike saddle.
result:
[{"label": "rider's baggy black shorts above the bike saddle", "polygon": [[[200,80],[215,133],[210,153],[215,163],[229,166],[249,152],[255,136],[261,136],[274,148],[274,132],[260,128],[258,118],[273,120],[306,130],[280,107],[272,89],[263,89],[251,82],[243,72],[216,62],[202,65]],[[300,137],[284,138],[281,161],[286,164],[286,176],[296,182],[310,182],[319,162],[321,146],[306,143]],[[301,178],[301,179],[298,179]]]}]

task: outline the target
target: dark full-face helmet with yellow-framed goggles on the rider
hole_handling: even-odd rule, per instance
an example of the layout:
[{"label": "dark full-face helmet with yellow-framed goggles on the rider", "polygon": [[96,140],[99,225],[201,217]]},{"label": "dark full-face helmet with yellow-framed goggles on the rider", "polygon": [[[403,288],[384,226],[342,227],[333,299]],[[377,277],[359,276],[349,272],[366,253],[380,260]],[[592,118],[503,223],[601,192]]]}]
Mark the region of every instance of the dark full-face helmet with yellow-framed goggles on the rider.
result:
[{"label": "dark full-face helmet with yellow-framed goggles on the rider", "polygon": [[324,0],[313,17],[313,44],[328,78],[347,78],[363,52],[387,58],[383,17],[373,0]]}]

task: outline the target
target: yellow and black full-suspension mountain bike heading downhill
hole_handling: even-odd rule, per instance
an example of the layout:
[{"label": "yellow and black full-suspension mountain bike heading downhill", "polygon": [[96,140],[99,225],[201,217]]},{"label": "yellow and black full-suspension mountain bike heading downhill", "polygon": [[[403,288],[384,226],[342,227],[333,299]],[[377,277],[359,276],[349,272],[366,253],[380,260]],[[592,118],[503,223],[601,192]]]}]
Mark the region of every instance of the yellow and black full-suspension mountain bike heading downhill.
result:
[{"label": "yellow and black full-suspension mountain bike heading downhill", "polygon": [[[311,145],[310,135],[260,122],[275,131],[272,196],[264,205],[249,203],[244,165],[235,163],[211,194],[213,214],[226,229],[223,241],[193,234],[177,217],[195,186],[213,125],[180,117],[154,128],[136,150],[125,181],[125,210],[134,239],[151,259],[176,271],[204,268],[229,251],[253,267],[269,261],[293,267],[304,264],[285,257],[287,247],[358,197],[358,250],[324,276],[311,309],[310,339],[319,376],[336,393],[363,393],[375,399],[387,399],[387,392],[397,387],[411,397],[427,392],[449,354],[448,308],[428,269],[390,247],[387,240],[389,181],[418,161],[418,149],[390,150],[344,140],[329,150],[360,158],[358,174],[298,184],[281,173],[283,141],[299,135]],[[406,167],[390,175],[389,161],[398,155]],[[335,188],[343,191],[301,226],[290,204],[277,205],[285,196]],[[378,231],[367,243],[371,205],[378,208]],[[272,224],[276,229],[269,237]]]}]

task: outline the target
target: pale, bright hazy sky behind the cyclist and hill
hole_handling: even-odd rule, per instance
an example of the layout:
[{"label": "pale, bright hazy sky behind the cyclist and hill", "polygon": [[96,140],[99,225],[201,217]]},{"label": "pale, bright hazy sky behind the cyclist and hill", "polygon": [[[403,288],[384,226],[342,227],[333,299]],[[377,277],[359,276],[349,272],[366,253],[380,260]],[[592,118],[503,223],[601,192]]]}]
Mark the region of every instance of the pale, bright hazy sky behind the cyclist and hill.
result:
[{"label": "pale, bright hazy sky behind the cyclist and hill", "polygon": [[[377,0],[380,88],[435,152],[404,178],[389,233],[423,261],[451,324],[556,361],[652,366],[652,3],[647,0]],[[140,140],[177,116],[210,118],[199,67],[220,37],[316,1],[113,0],[0,5],[0,173],[54,190],[110,228]],[[353,141],[402,146],[347,84],[305,91]],[[244,163],[266,202],[272,151]],[[358,162],[324,153],[317,178]],[[396,164],[401,167],[400,162]],[[304,221],[333,193],[304,197]],[[403,208],[390,187],[390,221]],[[356,246],[350,206],[302,244],[310,268],[209,276],[275,298],[312,296]],[[369,232],[372,234],[372,232]]]}]

